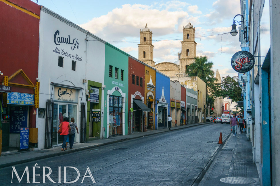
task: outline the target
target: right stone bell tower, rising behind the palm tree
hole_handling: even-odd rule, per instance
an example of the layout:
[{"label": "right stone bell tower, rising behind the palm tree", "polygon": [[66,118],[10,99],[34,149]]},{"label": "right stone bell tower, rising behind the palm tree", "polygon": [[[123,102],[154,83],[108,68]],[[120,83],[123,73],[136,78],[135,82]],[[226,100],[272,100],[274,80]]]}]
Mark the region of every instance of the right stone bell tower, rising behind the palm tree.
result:
[{"label": "right stone bell tower, rising behind the palm tree", "polygon": [[182,51],[179,53],[180,73],[185,73],[187,66],[194,62],[196,56],[195,28],[191,23],[183,27]]}]

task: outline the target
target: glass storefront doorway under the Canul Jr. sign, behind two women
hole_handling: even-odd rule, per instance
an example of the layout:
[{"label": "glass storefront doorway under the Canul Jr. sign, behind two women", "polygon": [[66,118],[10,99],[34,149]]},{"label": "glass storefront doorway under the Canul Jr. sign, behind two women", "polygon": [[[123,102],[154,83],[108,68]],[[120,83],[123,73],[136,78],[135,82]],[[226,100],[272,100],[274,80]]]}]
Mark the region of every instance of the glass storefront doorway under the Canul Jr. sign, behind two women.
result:
[{"label": "glass storefront doorway under the Canul Jr. sign, behind two women", "polygon": [[[62,144],[63,142],[62,136],[57,134],[57,131],[59,129],[58,126],[63,122],[64,118],[68,117],[69,120],[71,120],[71,118],[74,118],[75,121],[77,120],[76,107],[77,105],[73,104],[53,104],[53,146]],[[74,142],[76,142],[76,135]]]}]

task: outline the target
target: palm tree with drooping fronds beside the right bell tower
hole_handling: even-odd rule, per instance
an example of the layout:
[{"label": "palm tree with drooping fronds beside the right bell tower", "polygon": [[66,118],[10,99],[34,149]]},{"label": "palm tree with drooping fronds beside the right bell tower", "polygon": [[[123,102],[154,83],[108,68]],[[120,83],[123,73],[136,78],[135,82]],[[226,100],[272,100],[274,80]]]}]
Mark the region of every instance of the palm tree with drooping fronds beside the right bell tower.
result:
[{"label": "palm tree with drooping fronds beside the right bell tower", "polygon": [[186,74],[189,76],[197,76],[207,84],[214,83],[217,79],[214,77],[212,66],[214,63],[208,61],[207,56],[196,56],[195,61],[186,69]]}]

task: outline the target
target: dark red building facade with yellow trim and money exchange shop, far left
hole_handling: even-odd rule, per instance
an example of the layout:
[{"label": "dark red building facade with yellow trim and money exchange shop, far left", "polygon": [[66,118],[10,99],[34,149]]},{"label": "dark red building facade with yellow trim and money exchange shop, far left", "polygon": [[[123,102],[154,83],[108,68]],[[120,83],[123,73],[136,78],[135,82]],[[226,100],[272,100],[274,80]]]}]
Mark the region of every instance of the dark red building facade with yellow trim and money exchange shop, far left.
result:
[{"label": "dark red building facade with yellow trim and money exchange shop, far left", "polygon": [[16,134],[19,128],[36,128],[34,93],[38,77],[41,7],[29,0],[3,0],[0,9],[0,71],[3,73],[0,83],[5,77],[11,86],[3,114],[13,117],[15,113],[22,113],[16,123],[6,120],[2,124],[2,146],[19,148],[19,135]]}]

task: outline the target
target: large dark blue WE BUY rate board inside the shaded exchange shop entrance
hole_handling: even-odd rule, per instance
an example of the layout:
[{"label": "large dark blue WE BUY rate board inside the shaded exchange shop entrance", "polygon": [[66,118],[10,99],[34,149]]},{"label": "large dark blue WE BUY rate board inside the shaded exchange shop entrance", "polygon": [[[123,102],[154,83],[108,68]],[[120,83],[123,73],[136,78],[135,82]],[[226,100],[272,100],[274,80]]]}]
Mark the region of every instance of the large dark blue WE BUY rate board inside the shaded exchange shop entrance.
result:
[{"label": "large dark blue WE BUY rate board inside the shaded exchange shop entrance", "polygon": [[10,107],[10,133],[19,133],[27,127],[28,107]]}]

